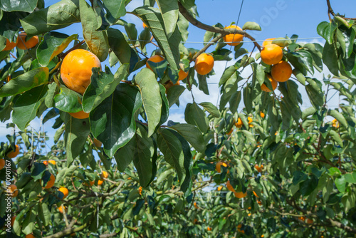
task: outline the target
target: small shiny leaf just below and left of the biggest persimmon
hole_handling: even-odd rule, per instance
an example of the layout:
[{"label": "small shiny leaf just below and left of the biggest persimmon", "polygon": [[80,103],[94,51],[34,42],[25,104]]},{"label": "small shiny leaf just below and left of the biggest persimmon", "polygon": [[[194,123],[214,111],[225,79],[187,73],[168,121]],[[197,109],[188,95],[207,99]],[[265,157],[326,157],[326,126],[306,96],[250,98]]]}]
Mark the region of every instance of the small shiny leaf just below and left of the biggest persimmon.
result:
[{"label": "small shiny leaf just below and left of the biggest persimmon", "polygon": [[82,110],[82,95],[65,86],[59,88],[59,93],[54,96],[54,105],[66,113],[78,113]]}]

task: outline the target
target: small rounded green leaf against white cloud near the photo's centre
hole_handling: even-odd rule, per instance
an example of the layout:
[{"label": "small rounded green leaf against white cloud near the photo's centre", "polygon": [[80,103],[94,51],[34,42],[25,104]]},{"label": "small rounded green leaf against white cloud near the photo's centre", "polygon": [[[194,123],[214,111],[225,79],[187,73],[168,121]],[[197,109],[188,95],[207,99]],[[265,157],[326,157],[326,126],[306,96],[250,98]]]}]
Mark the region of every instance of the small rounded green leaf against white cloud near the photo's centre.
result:
[{"label": "small rounded green leaf against white cloud near the photo's centre", "polygon": [[197,103],[188,103],[184,115],[187,123],[196,125],[202,133],[206,133],[209,128],[209,120]]}]

